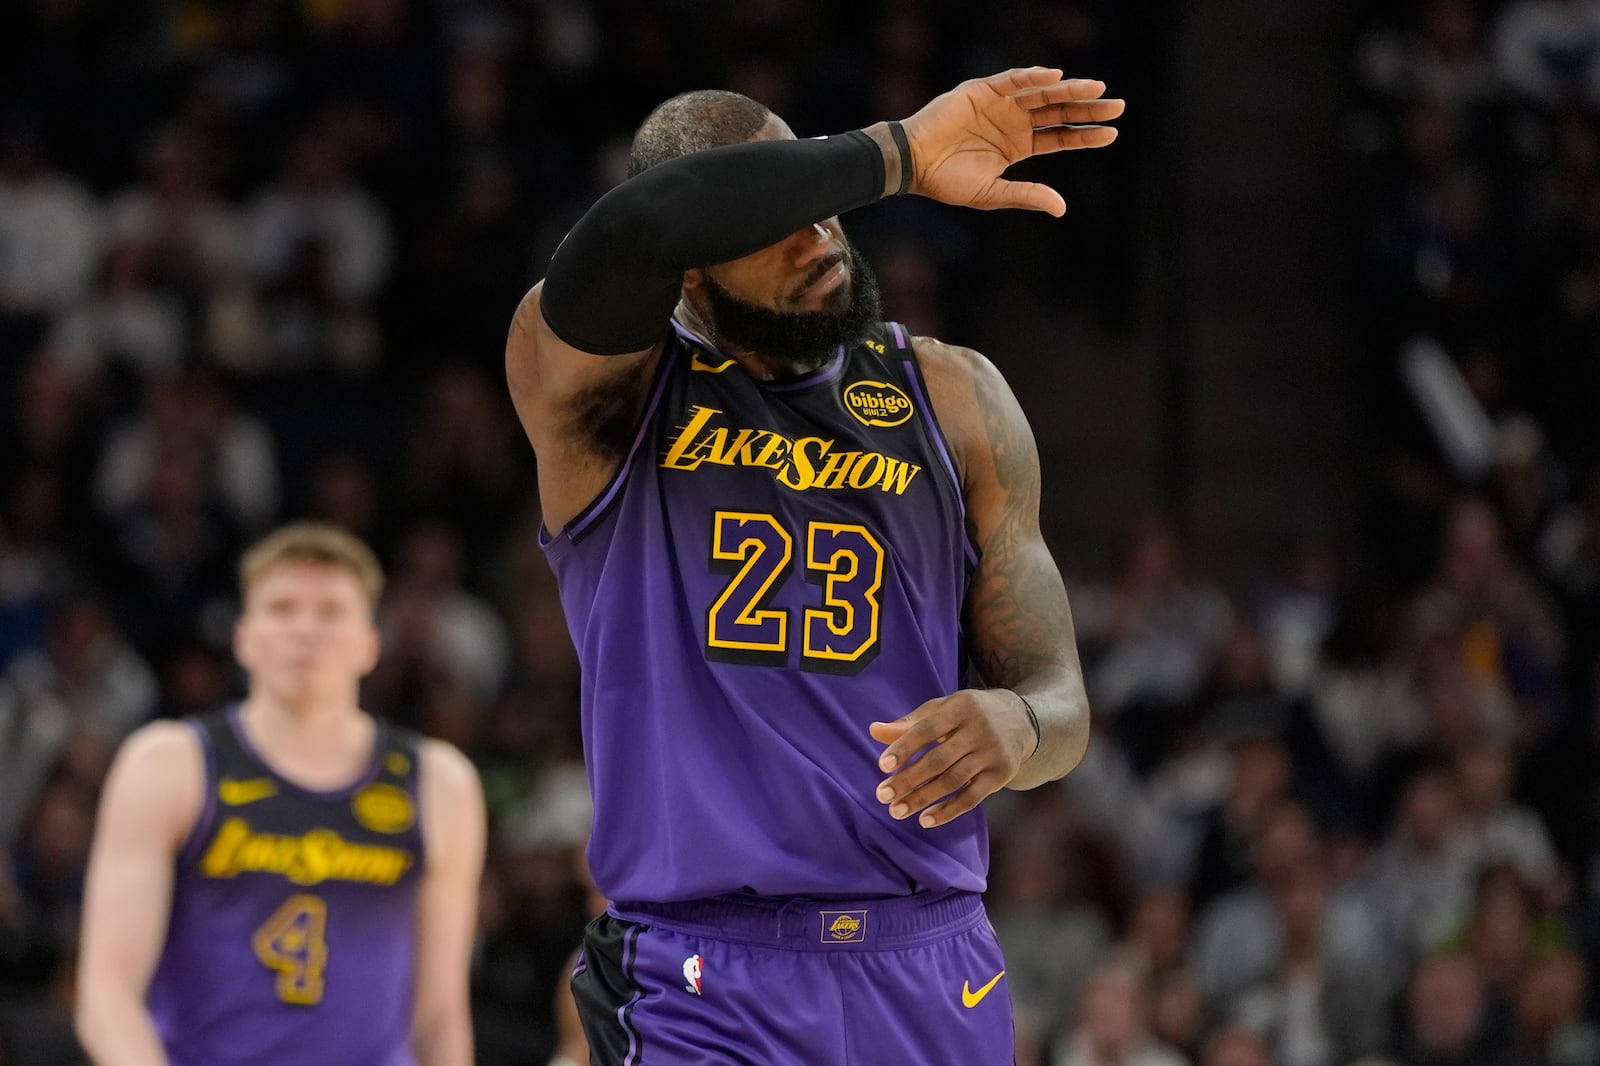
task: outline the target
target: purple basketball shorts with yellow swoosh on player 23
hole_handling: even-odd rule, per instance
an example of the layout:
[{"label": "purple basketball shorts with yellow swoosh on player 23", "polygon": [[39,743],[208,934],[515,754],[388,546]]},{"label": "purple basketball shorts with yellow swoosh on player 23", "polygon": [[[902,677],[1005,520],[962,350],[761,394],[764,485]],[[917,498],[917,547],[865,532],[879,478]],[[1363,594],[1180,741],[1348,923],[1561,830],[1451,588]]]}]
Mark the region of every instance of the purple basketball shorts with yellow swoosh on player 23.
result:
[{"label": "purple basketball shorts with yellow swoosh on player 23", "polygon": [[618,904],[573,972],[594,1066],[1011,1066],[973,893]]}]

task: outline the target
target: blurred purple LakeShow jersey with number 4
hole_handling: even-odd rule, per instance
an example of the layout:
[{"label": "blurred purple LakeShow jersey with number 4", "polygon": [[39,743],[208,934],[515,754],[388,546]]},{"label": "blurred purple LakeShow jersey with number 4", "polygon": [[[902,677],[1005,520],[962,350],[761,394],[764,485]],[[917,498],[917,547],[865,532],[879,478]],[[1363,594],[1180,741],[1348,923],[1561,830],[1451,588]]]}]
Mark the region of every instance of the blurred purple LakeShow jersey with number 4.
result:
[{"label": "blurred purple LakeShow jersey with number 4", "polygon": [[251,749],[238,707],[190,722],[206,802],[178,856],[149,1005],[173,1066],[411,1066],[418,739],[378,725],[347,789]]}]

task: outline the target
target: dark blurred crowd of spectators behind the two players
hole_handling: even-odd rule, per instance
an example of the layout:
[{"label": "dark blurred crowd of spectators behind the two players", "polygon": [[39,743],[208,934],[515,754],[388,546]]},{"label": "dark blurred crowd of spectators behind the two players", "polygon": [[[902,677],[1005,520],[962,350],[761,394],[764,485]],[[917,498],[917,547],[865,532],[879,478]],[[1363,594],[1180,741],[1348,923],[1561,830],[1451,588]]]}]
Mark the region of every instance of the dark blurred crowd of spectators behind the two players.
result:
[{"label": "dark blurred crowd of spectators behind the two players", "polygon": [[[237,554],[318,517],[390,573],[368,706],[483,775],[478,1061],[544,1066],[595,901],[512,309],[674,91],[810,136],[1045,62],[1130,99],[1117,147],[1029,165],[1064,224],[846,219],[888,312],[984,347],[1040,431],[1096,731],[990,804],[1018,1061],[1600,1064],[1600,3],[1341,6],[1339,242],[1299,254],[1338,264],[1352,357],[1290,371],[1357,397],[1333,456],[1360,491],[1245,565],[1192,535],[1205,485],[1085,504],[1107,451],[1056,432],[1173,339],[1174,67],[1218,6],[0,5],[0,1063],[80,1061],[107,760],[238,695]],[[1240,40],[1269,6],[1232,5]],[[1296,322],[1258,325],[1296,357]]]}]

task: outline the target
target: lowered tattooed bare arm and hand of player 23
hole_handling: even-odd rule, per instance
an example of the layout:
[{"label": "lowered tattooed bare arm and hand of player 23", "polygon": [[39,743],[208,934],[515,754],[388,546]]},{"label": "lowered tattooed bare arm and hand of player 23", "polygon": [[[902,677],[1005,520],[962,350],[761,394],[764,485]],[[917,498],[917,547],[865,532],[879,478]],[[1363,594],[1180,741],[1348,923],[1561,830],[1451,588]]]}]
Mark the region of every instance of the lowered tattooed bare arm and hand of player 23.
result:
[{"label": "lowered tattooed bare arm and hand of player 23", "polygon": [[[872,727],[888,744],[878,765],[893,775],[878,789],[880,802],[896,818],[922,810],[922,824],[936,826],[1002,787],[1030,789],[1066,776],[1083,759],[1090,717],[1067,591],[1038,530],[1038,450],[1027,418],[1000,371],[978,352],[917,338],[917,355],[955,451],[968,527],[982,554],[963,621],[973,661],[994,685],[930,699],[898,722]],[[1038,719],[1037,749],[1029,707]]]}]

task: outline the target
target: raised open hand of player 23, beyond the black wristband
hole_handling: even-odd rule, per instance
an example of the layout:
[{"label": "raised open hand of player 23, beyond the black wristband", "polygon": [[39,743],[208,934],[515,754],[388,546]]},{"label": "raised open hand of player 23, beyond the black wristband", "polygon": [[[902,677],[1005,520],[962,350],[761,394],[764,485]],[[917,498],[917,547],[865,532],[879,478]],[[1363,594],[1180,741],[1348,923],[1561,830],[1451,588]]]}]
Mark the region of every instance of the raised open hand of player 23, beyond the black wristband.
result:
[{"label": "raised open hand of player 23, beyond the black wristband", "polygon": [[910,142],[910,190],[981,210],[1022,208],[1061,216],[1050,186],[1006,181],[1008,166],[1034,155],[1106,147],[1123,101],[1102,99],[1104,82],[1066,78],[1051,67],[1019,67],[962,82],[901,125]]}]

